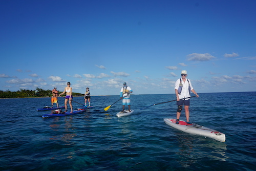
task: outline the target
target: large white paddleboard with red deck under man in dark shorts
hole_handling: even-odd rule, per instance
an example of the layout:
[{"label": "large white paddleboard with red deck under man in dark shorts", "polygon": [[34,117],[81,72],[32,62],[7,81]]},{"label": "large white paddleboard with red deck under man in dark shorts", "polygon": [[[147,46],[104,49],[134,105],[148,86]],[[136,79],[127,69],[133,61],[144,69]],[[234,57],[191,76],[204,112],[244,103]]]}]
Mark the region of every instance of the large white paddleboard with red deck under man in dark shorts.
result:
[{"label": "large white paddleboard with red deck under man in dark shorts", "polygon": [[205,136],[209,138],[213,138],[215,140],[218,140],[220,142],[225,142],[226,141],[226,136],[225,134],[209,129],[208,127],[198,125],[196,123],[193,124],[187,124],[185,121],[180,120],[179,124],[176,124],[176,119],[163,119],[164,122],[175,129],[178,129],[180,131],[189,133],[189,134],[194,134],[194,135],[200,135],[200,136]]}]

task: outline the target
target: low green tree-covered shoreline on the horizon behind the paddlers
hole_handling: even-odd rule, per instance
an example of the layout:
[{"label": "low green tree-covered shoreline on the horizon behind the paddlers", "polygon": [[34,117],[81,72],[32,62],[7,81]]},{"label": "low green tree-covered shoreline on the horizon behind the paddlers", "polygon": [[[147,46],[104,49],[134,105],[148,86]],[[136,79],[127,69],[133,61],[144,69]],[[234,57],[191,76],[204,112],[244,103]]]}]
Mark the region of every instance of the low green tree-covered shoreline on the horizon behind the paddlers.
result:
[{"label": "low green tree-covered shoreline on the horizon behind the paddlers", "polygon": [[[62,93],[59,91],[59,94]],[[72,92],[73,96],[84,96],[81,93],[74,93]],[[2,91],[0,90],[0,98],[25,98],[25,97],[51,97],[52,91],[51,90],[43,90],[36,88],[36,90],[26,90],[20,89],[16,92],[11,92],[9,90]]]}]

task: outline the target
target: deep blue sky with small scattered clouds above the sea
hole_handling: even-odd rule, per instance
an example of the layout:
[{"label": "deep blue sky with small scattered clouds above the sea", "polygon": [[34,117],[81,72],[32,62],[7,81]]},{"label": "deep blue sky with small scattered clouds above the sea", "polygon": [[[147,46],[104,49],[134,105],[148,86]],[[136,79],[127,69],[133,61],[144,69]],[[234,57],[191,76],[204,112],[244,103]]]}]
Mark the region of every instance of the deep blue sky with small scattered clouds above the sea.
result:
[{"label": "deep blue sky with small scattered clouds above the sea", "polygon": [[0,90],[256,91],[256,1],[0,1]]}]

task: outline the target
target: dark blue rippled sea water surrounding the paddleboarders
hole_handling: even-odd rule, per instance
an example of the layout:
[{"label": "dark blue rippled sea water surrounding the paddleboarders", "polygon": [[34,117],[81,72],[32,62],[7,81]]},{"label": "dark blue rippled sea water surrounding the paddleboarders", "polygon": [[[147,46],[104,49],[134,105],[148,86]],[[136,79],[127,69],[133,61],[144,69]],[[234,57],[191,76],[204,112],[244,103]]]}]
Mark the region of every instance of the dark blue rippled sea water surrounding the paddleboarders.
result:
[{"label": "dark blue rippled sea water surrounding the paddleboarders", "polygon": [[[256,92],[201,93],[190,121],[226,135],[222,143],[165,124],[174,94],[132,95],[130,116],[116,116],[119,96],[91,97],[82,114],[42,118],[50,98],[0,99],[0,170],[255,170]],[[83,103],[74,97],[73,107]],[[63,105],[64,98],[59,98]],[[181,119],[185,119],[184,110]]]}]

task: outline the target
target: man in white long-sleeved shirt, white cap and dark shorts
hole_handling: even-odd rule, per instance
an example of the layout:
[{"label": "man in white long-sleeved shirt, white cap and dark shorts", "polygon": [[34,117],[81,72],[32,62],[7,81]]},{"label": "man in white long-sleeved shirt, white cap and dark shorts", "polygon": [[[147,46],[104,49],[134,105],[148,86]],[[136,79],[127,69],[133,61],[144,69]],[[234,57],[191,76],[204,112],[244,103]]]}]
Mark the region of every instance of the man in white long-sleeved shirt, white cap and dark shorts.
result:
[{"label": "man in white long-sleeved shirt, white cap and dark shorts", "polygon": [[[193,92],[197,97],[199,97],[199,95],[193,89],[191,81],[186,77],[187,77],[187,71],[183,70],[181,71],[181,78],[179,78],[175,82],[175,94],[177,97],[177,105],[178,105],[176,124],[179,124],[180,114],[181,114],[183,105],[185,109],[187,124],[192,124],[191,122],[189,122],[190,91]],[[182,98],[186,98],[186,99],[182,99]]]}]

